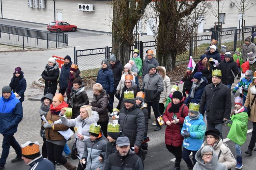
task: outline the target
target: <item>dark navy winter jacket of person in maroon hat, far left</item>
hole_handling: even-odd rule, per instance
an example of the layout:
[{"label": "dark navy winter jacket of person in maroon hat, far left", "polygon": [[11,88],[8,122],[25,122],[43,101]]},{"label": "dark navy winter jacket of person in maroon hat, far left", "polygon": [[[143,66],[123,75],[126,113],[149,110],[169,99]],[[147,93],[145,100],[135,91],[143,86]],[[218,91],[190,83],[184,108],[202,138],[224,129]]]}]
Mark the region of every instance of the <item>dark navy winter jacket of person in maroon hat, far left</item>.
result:
[{"label": "dark navy winter jacket of person in maroon hat, far left", "polygon": [[12,88],[12,91],[13,92],[16,92],[19,96],[20,96],[20,99],[19,101],[20,102],[23,102],[24,101],[24,98],[25,98],[25,95],[24,95],[24,92],[26,91],[26,88],[27,88],[27,81],[25,80],[24,78],[24,75],[23,75],[23,71],[22,73],[20,74],[19,76],[19,85],[18,85],[18,88],[13,88],[13,85],[14,85],[14,80],[16,78],[16,75],[15,73],[13,73],[13,78],[11,79],[11,83],[10,83],[10,87]]}]

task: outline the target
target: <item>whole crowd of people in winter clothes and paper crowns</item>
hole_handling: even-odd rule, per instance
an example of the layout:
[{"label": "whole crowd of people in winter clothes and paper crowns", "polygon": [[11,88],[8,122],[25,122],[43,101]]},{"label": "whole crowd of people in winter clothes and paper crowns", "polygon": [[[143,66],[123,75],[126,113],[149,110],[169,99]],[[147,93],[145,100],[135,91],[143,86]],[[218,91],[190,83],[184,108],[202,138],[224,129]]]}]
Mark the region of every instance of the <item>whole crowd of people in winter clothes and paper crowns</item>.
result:
[{"label": "whole crowd of people in winter clothes and paper crowns", "polygon": [[[151,107],[154,131],[166,125],[166,148],[175,156],[173,170],[181,169],[182,158],[189,170],[241,169],[241,145],[246,141],[248,119],[253,122],[253,131],[245,154],[252,155],[256,142],[256,47],[249,36],[241,52],[237,50],[231,54],[222,46],[220,54],[213,39],[196,65],[190,58],[180,81],[184,83],[182,92],[177,85],[171,86],[166,69],[159,66],[153,50],[146,51],[142,63],[139,50],[134,49],[124,67],[112,54],[109,60],[101,62],[91,103],[80,70],[71,57],[64,58],[60,71],[56,58],[49,58],[42,72],[45,87],[39,109],[42,154],[38,142],[28,141],[20,146],[13,136],[23,117],[27,86],[22,69],[15,68],[10,85],[2,88],[0,99],[3,135],[0,170],[5,170],[10,146],[17,154],[12,162],[23,159],[31,169],[55,169],[56,164],[61,164],[69,170],[142,170]],[[232,95],[239,90],[240,96],[234,98],[235,109],[231,113],[230,89],[237,75],[240,81]],[[142,76],[141,86],[139,76]],[[56,93],[58,84],[60,89]],[[114,100],[118,100],[116,108]],[[117,121],[111,122],[111,116]],[[236,156],[222,140],[223,125],[230,127],[227,137],[235,143]],[[71,150],[67,145],[68,133],[75,134]],[[68,161],[70,155],[79,159],[77,166]]]}]

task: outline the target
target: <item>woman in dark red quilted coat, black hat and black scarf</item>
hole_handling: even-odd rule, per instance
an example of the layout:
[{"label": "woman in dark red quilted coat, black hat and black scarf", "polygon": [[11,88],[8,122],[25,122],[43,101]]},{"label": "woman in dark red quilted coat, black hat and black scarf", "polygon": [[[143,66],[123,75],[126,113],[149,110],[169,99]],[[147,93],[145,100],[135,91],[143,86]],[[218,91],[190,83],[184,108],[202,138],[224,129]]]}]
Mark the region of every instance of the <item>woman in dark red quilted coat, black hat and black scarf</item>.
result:
[{"label": "woman in dark red quilted coat, black hat and black scarf", "polygon": [[165,130],[165,144],[169,152],[171,152],[176,160],[173,170],[180,170],[182,158],[182,143],[181,128],[185,117],[188,115],[188,107],[184,104],[184,98],[180,91],[174,91],[172,102],[168,104],[163,120],[167,125]]}]

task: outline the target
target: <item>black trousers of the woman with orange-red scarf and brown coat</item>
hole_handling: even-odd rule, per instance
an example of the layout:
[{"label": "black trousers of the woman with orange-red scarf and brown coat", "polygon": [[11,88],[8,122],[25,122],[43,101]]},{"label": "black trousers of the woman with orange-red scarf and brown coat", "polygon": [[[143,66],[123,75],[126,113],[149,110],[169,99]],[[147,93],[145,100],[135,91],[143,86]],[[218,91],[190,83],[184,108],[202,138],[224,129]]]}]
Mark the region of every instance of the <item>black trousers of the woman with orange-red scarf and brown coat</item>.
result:
[{"label": "black trousers of the woman with orange-red scarf and brown coat", "polygon": [[62,155],[64,146],[56,145],[54,143],[46,141],[47,156],[48,159],[55,165],[55,161],[61,165],[67,163],[67,159]]}]

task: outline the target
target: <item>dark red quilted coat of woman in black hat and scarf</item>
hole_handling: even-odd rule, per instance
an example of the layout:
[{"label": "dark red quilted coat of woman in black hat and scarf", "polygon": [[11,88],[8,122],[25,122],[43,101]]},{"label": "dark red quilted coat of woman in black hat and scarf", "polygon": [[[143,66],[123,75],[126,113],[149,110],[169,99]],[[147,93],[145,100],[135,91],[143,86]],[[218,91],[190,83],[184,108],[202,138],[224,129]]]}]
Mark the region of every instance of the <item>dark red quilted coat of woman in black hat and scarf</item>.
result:
[{"label": "dark red quilted coat of woman in black hat and scarf", "polygon": [[[184,99],[182,99],[181,102],[184,102]],[[166,127],[165,130],[165,144],[166,145],[172,145],[174,147],[179,147],[182,146],[182,142],[183,142],[183,137],[181,136],[181,131],[180,131],[180,124],[183,125],[183,122],[185,120],[185,117],[188,115],[188,107],[185,106],[183,109],[183,117],[181,116],[181,111],[182,111],[182,107],[185,104],[180,106],[180,110],[179,113],[175,113],[177,115],[177,119],[180,119],[179,123],[177,124],[173,124],[171,126]],[[167,109],[165,110],[165,113],[163,114],[163,120],[166,121],[172,121],[172,117],[173,117],[173,112],[168,112],[169,108],[172,106],[172,103],[169,103],[167,106]]]}]

